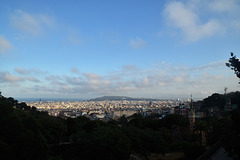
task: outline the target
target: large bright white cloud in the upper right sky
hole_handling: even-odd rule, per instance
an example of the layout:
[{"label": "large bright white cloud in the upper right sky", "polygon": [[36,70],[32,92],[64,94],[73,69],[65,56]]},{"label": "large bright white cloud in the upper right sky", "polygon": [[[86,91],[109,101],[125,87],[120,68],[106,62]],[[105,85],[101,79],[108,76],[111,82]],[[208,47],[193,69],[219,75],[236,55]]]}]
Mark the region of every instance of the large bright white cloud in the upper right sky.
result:
[{"label": "large bright white cloud in the upper right sky", "polygon": [[171,1],[167,4],[164,15],[170,25],[182,30],[187,41],[194,42],[205,37],[221,34],[224,28],[217,19],[201,22],[192,5],[180,1]]}]

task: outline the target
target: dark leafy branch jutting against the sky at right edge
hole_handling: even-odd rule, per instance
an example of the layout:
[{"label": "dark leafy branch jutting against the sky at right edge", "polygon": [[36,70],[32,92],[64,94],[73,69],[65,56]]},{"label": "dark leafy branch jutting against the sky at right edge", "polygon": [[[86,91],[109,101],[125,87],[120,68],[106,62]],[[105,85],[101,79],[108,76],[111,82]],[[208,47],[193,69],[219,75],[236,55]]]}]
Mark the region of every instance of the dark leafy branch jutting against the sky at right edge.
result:
[{"label": "dark leafy branch jutting against the sky at right edge", "polygon": [[[226,63],[226,66],[231,68],[236,76],[240,79],[240,61],[236,56],[231,52],[231,58],[228,60],[229,63]],[[240,82],[239,82],[240,83]]]}]

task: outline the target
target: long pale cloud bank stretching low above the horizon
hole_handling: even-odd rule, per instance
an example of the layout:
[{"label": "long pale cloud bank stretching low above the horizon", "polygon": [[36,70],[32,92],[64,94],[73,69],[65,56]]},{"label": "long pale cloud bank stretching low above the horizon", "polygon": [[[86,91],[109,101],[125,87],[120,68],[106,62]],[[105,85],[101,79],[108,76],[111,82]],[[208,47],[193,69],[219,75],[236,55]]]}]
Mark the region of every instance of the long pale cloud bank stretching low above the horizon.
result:
[{"label": "long pale cloud bank stretching low above the horizon", "polygon": [[208,96],[207,93],[209,95],[214,92],[222,93],[225,86],[234,90],[238,85],[238,79],[225,66],[224,61],[195,67],[174,66],[167,62],[144,69],[129,65],[106,75],[96,73],[78,73],[77,76],[47,74],[45,80],[38,75],[28,76],[29,74],[25,74],[25,71],[28,70],[15,69],[16,75],[0,72],[0,82],[7,86],[12,86],[17,82],[21,85],[16,87],[16,90],[18,88],[33,90],[35,94],[80,98],[103,95],[186,98],[191,93],[194,97],[204,98]]}]

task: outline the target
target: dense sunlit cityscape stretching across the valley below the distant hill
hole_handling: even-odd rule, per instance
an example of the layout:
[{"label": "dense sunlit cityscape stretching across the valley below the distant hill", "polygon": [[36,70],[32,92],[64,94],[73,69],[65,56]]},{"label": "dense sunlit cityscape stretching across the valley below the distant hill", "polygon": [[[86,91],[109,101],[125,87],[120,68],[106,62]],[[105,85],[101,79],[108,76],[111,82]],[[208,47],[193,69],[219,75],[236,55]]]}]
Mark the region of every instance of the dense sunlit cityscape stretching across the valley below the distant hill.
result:
[{"label": "dense sunlit cityscape stretching across the valley below the distant hill", "polygon": [[51,116],[77,118],[86,116],[92,120],[117,119],[123,115],[129,117],[134,113],[141,113],[143,116],[151,113],[161,115],[174,114],[174,108],[184,105],[189,108],[190,99],[186,100],[89,100],[89,101],[32,101],[27,102],[29,106],[35,106],[39,111],[47,111]]}]

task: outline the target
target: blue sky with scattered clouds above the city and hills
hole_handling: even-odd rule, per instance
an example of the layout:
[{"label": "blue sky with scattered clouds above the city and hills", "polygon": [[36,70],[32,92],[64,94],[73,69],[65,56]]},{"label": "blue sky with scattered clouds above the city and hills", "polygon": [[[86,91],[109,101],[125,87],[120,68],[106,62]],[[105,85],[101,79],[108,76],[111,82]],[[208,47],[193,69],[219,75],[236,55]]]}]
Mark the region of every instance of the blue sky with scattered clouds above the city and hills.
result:
[{"label": "blue sky with scattered clouds above the city and hills", "polygon": [[239,0],[1,0],[0,91],[206,98],[240,89]]}]

